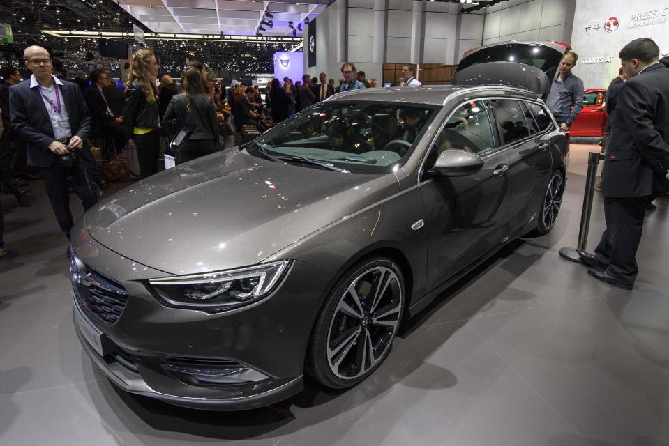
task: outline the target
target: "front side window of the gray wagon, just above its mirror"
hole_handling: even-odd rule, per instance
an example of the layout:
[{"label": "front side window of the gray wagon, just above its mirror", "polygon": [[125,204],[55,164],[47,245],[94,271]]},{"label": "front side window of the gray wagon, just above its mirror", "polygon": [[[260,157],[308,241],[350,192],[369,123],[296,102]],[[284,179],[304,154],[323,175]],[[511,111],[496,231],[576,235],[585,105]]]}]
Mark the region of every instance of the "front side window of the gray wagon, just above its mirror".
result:
[{"label": "front side window of the gray wagon, just above its mirror", "polygon": [[437,156],[453,149],[484,156],[493,151],[493,132],[483,100],[458,107],[437,136]]}]

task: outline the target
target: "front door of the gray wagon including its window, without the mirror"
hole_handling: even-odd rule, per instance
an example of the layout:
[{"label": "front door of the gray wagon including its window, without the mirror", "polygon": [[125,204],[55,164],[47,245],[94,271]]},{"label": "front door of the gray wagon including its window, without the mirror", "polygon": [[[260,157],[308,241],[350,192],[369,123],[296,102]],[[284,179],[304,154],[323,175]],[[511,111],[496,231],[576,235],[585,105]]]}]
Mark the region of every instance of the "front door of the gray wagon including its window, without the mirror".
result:
[{"label": "front door of the gray wagon including its window, without the mirror", "polygon": [[[481,156],[483,168],[469,176],[427,171],[445,150]],[[421,194],[428,231],[426,291],[431,291],[504,240],[509,208],[508,160],[495,145],[485,101],[459,105],[446,119],[423,165]]]}]

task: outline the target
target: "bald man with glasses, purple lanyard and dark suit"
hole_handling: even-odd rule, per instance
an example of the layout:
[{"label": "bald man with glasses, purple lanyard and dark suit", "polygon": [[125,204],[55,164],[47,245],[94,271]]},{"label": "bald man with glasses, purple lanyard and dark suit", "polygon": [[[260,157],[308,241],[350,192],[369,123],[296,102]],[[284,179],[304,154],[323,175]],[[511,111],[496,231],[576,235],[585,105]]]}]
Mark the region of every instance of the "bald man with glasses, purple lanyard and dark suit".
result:
[{"label": "bald man with glasses, purple lanyard and dark suit", "polygon": [[[24,52],[30,79],[9,89],[13,129],[27,144],[27,162],[41,169],[51,206],[61,230],[70,238],[73,226],[67,177],[71,174],[84,210],[96,202],[84,159],[91,153],[84,140],[91,128],[91,115],[76,84],[52,75],[51,57],[43,47]],[[63,157],[74,153],[71,167]],[[82,154],[87,155],[83,157]]]}]

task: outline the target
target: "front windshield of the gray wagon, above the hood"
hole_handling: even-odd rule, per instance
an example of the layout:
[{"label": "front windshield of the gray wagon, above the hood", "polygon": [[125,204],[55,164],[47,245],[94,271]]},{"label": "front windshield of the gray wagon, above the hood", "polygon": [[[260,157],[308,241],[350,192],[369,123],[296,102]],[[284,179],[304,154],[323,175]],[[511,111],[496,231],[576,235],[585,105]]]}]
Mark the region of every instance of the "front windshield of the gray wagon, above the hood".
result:
[{"label": "front windshield of the gray wagon, above the hood", "polygon": [[435,108],[323,102],[265,132],[255,140],[257,144],[243,148],[254,156],[310,168],[324,169],[329,164],[360,174],[388,173],[406,162]]}]

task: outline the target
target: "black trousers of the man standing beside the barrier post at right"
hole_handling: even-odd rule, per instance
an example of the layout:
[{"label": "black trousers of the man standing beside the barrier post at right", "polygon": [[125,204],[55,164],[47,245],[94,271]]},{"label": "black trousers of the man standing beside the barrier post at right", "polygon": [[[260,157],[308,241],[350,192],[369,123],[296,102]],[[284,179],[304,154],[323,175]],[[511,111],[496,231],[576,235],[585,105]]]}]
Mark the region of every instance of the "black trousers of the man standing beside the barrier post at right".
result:
[{"label": "black trousers of the man standing beside the barrier post at right", "polygon": [[604,197],[606,230],[595,255],[599,261],[608,264],[606,272],[625,284],[633,285],[639,272],[636,250],[649,202],[650,197]]}]

